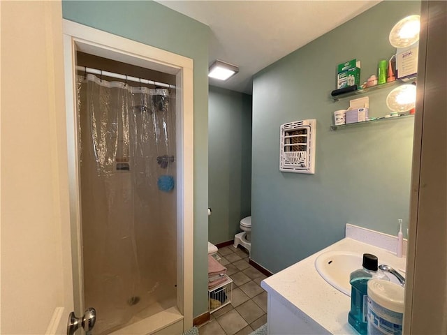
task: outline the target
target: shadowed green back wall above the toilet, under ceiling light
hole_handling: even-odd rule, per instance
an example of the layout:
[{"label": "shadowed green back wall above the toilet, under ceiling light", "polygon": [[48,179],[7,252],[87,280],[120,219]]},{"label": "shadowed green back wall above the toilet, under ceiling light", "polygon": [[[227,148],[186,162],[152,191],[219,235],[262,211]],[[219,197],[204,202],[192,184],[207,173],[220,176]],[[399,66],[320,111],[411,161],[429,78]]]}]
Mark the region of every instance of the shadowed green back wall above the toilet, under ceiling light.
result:
[{"label": "shadowed green back wall above the toilet, under ceiling light", "polygon": [[208,237],[234,239],[251,211],[251,96],[210,86],[208,96]]}]

